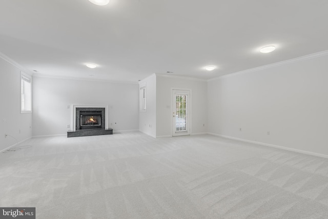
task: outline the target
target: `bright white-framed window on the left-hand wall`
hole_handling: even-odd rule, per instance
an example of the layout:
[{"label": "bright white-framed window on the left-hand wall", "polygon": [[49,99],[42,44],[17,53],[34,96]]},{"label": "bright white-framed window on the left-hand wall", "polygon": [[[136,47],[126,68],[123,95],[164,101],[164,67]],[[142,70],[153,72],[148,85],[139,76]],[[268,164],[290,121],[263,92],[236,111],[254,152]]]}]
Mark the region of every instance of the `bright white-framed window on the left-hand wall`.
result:
[{"label": "bright white-framed window on the left-hand wall", "polygon": [[20,72],[20,112],[32,112],[32,77]]}]

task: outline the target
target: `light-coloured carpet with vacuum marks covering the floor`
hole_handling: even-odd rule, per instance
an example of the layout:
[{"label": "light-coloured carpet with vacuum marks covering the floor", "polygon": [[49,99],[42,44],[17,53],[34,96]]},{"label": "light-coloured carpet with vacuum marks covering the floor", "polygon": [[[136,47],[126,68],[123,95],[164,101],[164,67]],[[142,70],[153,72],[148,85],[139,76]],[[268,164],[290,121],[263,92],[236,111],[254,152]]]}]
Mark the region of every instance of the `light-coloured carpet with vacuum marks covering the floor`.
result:
[{"label": "light-coloured carpet with vacuum marks covering the floor", "polygon": [[0,206],[36,218],[328,218],[328,160],[211,135],[32,138]]}]

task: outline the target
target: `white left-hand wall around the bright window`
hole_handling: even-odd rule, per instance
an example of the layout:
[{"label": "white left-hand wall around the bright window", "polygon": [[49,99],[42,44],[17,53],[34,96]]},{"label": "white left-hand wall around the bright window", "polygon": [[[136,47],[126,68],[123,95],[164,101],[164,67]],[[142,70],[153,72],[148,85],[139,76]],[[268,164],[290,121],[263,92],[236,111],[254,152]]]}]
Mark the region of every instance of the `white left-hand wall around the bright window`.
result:
[{"label": "white left-hand wall around the bright window", "polygon": [[[0,58],[0,72],[1,151],[16,144],[14,138],[21,142],[32,136],[32,113],[20,113],[20,70]],[[4,119],[6,122],[3,122]],[[5,138],[5,133],[14,138]]]}]

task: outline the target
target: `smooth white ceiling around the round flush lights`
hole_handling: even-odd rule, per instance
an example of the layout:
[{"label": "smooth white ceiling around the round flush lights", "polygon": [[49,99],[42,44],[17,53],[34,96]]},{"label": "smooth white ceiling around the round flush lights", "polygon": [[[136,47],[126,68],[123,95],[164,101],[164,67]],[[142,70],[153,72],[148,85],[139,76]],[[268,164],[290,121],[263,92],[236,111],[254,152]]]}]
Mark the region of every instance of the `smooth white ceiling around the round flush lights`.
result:
[{"label": "smooth white ceiling around the round flush lights", "polygon": [[327,11],[326,0],[2,0],[0,52],[39,75],[209,79],[328,50]]}]

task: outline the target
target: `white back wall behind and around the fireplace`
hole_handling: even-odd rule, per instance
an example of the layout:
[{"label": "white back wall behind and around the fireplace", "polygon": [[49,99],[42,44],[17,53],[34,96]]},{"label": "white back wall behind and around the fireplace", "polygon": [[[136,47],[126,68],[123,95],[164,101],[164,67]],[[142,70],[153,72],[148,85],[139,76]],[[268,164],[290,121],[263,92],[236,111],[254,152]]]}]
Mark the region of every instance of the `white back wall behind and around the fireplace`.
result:
[{"label": "white back wall behind and around the fireplace", "polygon": [[48,77],[33,77],[33,83],[33,136],[66,134],[72,104],[108,105],[113,131],[138,129],[138,84]]}]

